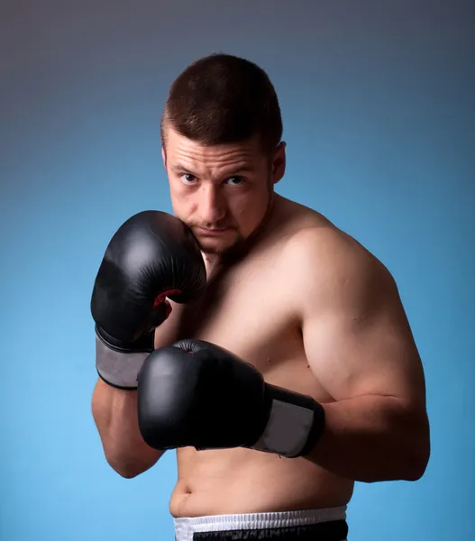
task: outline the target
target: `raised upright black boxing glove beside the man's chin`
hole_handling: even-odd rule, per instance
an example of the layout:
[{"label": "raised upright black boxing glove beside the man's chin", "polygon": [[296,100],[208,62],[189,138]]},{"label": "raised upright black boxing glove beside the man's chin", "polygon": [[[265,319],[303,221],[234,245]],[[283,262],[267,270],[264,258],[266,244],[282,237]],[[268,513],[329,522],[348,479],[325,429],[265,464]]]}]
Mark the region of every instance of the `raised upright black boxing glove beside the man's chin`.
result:
[{"label": "raised upright black boxing glove beside the man's chin", "polygon": [[99,376],[136,389],[154,330],[169,316],[165,298],[185,303],[205,288],[205,262],[187,225],[154,210],[129,218],[107,246],[91,298]]}]

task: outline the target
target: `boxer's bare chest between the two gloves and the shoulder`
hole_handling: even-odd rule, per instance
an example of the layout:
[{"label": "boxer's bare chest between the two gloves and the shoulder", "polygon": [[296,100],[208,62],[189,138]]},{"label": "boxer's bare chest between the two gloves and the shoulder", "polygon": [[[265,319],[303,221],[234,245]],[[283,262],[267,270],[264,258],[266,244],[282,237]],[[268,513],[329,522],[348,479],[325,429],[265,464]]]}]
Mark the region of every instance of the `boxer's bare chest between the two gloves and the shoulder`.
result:
[{"label": "boxer's bare chest between the two gloves and the shoulder", "polygon": [[[278,266],[255,261],[210,280],[199,302],[173,305],[166,342],[196,338],[220,345],[278,383],[284,366],[306,369],[302,336]],[[167,326],[167,329],[165,329]],[[161,330],[160,330],[161,332]]]}]

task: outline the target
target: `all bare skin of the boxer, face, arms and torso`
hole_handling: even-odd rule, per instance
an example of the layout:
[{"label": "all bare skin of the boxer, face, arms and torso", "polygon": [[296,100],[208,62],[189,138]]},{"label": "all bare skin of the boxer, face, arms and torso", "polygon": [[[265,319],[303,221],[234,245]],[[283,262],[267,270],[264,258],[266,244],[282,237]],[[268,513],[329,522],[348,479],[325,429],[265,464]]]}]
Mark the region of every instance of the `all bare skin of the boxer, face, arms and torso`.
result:
[{"label": "all bare skin of the boxer, face, arms and torso", "polygon": [[[174,517],[340,506],[354,481],[416,481],[429,460],[424,371],[397,285],[350,235],[275,193],[285,150],[204,147],[168,128],[173,211],[200,243],[208,287],[195,303],[170,301],[155,346],[195,337],[233,351],[322,403],[324,435],[297,459],[178,449]],[[135,399],[102,381],[93,395],[105,456],[124,477],[161,456],[142,441]]]}]

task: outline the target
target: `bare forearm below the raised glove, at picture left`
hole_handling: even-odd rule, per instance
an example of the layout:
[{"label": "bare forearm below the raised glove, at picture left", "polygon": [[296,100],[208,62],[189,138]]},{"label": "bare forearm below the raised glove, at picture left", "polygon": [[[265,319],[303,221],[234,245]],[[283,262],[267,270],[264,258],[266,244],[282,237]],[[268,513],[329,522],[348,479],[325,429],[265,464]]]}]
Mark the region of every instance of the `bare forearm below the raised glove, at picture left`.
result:
[{"label": "bare forearm below the raised glove, at picture left", "polygon": [[137,391],[119,390],[98,380],[92,413],[107,462],[123,477],[149,469],[163,452],[151,449],[141,436],[137,418]]}]

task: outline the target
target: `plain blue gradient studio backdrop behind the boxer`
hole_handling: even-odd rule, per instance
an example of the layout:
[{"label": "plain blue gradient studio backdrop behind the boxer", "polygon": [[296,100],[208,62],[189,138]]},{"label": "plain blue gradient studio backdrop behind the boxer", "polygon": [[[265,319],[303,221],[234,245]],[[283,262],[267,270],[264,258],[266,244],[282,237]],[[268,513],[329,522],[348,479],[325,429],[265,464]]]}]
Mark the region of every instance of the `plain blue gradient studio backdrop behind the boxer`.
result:
[{"label": "plain blue gradient studio backdrop behind the boxer", "polygon": [[349,539],[474,537],[474,22],[461,1],[2,2],[2,540],[173,538],[174,454],[133,480],[105,463],[89,299],[116,227],[171,211],[161,107],[216,50],[269,72],[279,192],[388,265],[424,360],[425,477],[358,484]]}]

